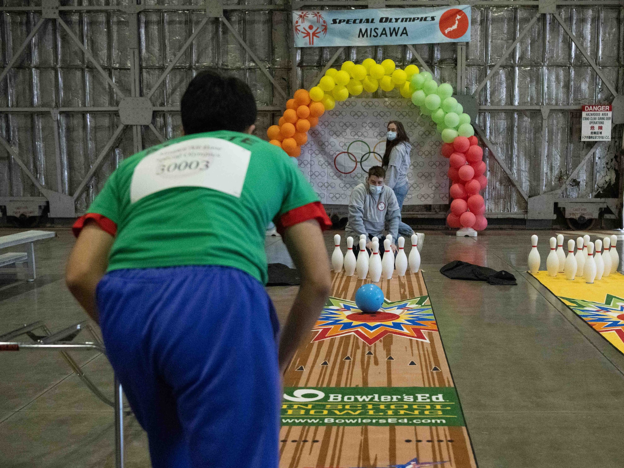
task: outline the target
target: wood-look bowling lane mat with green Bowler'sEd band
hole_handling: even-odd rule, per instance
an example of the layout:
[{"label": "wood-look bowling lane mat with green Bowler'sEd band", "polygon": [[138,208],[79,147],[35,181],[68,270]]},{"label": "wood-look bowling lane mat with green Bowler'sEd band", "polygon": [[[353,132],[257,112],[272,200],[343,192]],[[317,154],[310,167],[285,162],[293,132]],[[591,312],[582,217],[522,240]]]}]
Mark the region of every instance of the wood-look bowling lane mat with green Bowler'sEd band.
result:
[{"label": "wood-look bowling lane mat with green Bowler'sEd band", "polygon": [[476,467],[422,274],[379,282],[375,316],[354,302],[368,282],[333,274],[286,371],[280,467]]}]

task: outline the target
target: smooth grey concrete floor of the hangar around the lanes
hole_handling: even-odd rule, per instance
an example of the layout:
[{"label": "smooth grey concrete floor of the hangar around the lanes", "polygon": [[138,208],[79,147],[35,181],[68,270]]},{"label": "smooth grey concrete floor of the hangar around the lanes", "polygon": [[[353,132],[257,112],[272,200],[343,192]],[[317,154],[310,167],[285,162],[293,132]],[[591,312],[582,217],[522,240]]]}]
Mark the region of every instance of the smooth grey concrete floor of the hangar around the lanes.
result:
[{"label": "smooth grey concrete floor of the hangar around the lanes", "polygon": [[[0,236],[12,232],[0,229]],[[62,280],[71,231],[57,233],[36,245],[36,281],[0,282],[0,334],[36,320],[56,331],[86,319]],[[329,252],[333,234],[326,233]],[[545,268],[543,240],[554,233],[538,234]],[[421,252],[477,462],[481,468],[622,468],[624,356],[524,273],[529,235],[486,231],[469,239],[431,231]],[[278,239],[267,244],[278,256]],[[439,273],[452,260],[505,269],[518,285],[452,281]],[[281,320],[296,290],[270,288]],[[74,356],[112,396],[105,357]],[[0,467],[114,466],[112,411],[60,356],[3,352],[0,376]],[[127,467],[149,466],[147,437],[132,416],[125,418],[125,444]]]}]

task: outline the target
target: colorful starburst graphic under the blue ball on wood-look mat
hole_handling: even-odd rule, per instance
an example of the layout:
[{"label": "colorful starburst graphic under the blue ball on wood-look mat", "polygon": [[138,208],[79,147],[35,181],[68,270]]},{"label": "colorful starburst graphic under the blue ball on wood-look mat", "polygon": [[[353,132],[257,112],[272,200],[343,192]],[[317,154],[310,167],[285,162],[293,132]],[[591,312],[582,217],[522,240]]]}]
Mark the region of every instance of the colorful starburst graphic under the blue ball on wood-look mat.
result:
[{"label": "colorful starburst graphic under the blue ball on wood-look mat", "polygon": [[437,324],[429,296],[384,300],[377,314],[363,314],[355,302],[329,297],[313,330],[318,331],[313,342],[353,334],[371,345],[386,335],[429,342],[423,332],[437,332]]}]

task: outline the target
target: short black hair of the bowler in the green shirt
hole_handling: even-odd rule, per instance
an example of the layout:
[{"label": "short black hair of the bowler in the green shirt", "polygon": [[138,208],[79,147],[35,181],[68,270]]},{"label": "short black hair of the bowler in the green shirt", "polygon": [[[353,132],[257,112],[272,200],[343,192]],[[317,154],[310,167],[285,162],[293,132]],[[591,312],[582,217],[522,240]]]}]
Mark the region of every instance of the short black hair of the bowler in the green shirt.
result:
[{"label": "short black hair of the bowler in the green shirt", "polygon": [[243,132],[258,115],[248,84],[212,69],[199,72],[191,80],[182,96],[180,111],[187,135],[215,130]]}]

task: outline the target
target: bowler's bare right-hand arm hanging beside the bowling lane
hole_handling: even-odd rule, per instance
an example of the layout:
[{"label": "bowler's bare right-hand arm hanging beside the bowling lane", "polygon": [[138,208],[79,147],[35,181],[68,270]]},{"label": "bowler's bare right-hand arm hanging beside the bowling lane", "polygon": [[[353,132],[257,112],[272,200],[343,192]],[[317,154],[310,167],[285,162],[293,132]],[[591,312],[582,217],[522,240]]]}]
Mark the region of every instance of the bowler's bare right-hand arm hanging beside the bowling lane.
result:
[{"label": "bowler's bare right-hand arm hanging beside the bowling lane", "polygon": [[327,247],[318,221],[310,219],[287,227],[283,239],[299,272],[301,286],[280,335],[281,374],[316,324],[331,289]]}]

